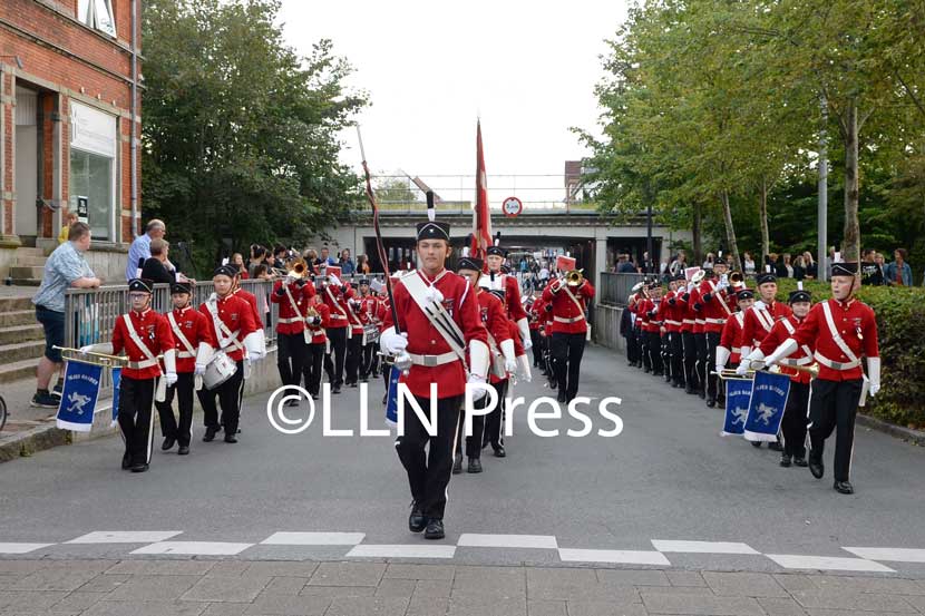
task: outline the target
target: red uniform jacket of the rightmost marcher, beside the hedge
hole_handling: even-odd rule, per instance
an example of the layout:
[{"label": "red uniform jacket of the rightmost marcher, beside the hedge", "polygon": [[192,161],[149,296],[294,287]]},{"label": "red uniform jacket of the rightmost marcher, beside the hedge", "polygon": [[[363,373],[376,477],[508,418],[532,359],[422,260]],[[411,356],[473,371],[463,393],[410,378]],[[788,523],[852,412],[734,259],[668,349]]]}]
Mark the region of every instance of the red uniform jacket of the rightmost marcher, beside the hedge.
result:
[{"label": "red uniform jacket of the rightmost marcher, beside the hedge", "polygon": [[[845,341],[845,344],[848,345],[855,356],[857,359],[860,359],[861,354],[868,358],[880,356],[877,343],[877,320],[870,306],[855,299],[847,302],[837,300],[826,300],[826,302],[829,304],[838,335],[841,336],[841,340]],[[819,362],[819,379],[825,381],[860,379],[864,373],[860,365],[845,370],[834,370],[826,365],[829,362],[849,362],[848,356],[836,344],[831,330],[826,322],[826,316],[822,313],[822,304],[826,302],[819,302],[812,306],[791,338],[800,345],[816,344],[815,356]]]}]

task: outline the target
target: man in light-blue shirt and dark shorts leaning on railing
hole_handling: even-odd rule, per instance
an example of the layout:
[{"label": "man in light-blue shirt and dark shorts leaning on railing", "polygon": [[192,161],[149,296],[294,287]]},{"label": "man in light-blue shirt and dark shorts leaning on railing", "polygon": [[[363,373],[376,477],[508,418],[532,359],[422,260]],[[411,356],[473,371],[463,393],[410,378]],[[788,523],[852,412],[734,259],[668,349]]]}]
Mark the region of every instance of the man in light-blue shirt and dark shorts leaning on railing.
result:
[{"label": "man in light-blue shirt and dark shorts leaning on railing", "polygon": [[[32,303],[36,304],[36,319],[45,329],[45,356],[39,360],[36,370],[37,383],[32,407],[58,408],[60,399],[48,391],[48,383],[64,363],[61,351],[55,346],[65,345],[65,291],[71,286],[96,289],[101,284],[84,257],[84,253],[89,248],[89,225],[74,223],[68,231],[68,241],[55,248],[45,263],[41,285],[32,297]],[[60,385],[60,379],[58,383]]]}]

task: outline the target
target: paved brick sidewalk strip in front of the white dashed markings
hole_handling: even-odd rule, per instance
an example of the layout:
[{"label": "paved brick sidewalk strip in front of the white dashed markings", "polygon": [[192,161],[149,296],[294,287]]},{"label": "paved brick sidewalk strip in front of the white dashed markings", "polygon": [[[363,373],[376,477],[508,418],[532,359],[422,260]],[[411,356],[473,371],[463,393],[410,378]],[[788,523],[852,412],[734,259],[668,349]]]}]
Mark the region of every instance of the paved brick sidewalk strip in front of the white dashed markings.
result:
[{"label": "paved brick sidewalk strip in front of the white dashed markings", "polygon": [[925,581],[396,563],[0,560],[0,614],[596,616],[925,613]]}]

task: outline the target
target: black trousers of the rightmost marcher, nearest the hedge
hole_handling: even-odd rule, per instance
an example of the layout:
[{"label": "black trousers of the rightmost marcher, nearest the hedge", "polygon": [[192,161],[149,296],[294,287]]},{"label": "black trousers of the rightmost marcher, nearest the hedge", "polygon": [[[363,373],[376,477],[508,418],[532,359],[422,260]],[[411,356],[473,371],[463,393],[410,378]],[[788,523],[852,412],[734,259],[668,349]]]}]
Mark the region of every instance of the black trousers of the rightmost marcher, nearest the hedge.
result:
[{"label": "black trousers of the rightmost marcher, nearest the hedge", "polygon": [[851,473],[851,451],[855,446],[855,417],[860,401],[864,382],[812,381],[809,397],[809,442],[810,457],[822,459],[826,439],[836,430],[835,480],[848,481]]}]

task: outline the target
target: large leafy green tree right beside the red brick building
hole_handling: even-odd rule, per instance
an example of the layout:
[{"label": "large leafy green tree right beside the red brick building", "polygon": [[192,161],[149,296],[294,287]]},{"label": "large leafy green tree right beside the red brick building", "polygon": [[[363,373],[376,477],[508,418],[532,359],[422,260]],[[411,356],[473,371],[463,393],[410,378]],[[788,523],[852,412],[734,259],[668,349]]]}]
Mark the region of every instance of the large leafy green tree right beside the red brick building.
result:
[{"label": "large leafy green tree right beside the red brick building", "polygon": [[145,2],[146,217],[193,246],[199,270],[250,243],[300,244],[344,216],[359,178],[338,131],[366,100],[319,41],[286,47],[279,0]]}]

